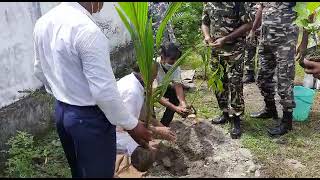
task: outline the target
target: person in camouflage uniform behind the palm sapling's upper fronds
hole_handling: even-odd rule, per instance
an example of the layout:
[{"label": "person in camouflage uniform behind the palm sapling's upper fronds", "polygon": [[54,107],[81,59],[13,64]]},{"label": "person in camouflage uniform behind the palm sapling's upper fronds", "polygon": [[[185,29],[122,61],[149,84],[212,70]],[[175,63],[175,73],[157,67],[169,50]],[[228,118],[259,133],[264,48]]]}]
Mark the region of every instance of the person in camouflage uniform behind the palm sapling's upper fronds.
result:
[{"label": "person in camouflage uniform behind the palm sapling's upper fronds", "polygon": [[[166,14],[168,9],[168,2],[149,2],[149,16],[152,17],[153,37],[156,39],[157,30]],[[173,32],[171,23],[167,24],[166,29],[163,32],[162,44],[168,45],[170,42],[176,43],[176,37]]]}]

